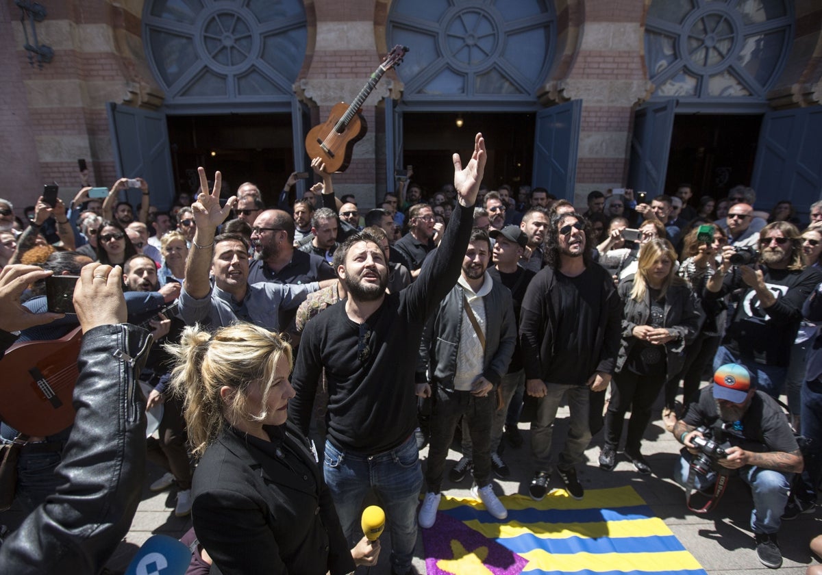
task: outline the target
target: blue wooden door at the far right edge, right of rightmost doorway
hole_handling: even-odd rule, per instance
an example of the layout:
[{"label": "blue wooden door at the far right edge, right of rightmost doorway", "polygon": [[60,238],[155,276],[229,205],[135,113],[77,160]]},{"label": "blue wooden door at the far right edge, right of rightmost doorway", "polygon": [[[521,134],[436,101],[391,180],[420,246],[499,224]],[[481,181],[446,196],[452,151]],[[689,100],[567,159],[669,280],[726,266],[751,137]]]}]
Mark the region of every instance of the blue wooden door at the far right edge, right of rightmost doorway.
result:
[{"label": "blue wooden door at the far right edge, right of rightmost doorway", "polygon": [[790,200],[807,214],[822,197],[822,106],[765,114],[750,186],[756,204],[770,209]]}]

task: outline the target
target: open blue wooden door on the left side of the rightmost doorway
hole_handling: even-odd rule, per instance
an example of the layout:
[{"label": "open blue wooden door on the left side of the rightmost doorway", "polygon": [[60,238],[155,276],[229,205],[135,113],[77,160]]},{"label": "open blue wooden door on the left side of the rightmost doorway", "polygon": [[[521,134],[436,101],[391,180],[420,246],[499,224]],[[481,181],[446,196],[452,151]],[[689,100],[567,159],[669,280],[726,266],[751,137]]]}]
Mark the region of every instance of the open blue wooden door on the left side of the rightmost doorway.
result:
[{"label": "open blue wooden door on the left side of the rightmost doorway", "polygon": [[668,151],[671,150],[676,99],[646,103],[634,113],[634,134],[630,139],[628,187],[648,192],[649,197],[665,193]]}]

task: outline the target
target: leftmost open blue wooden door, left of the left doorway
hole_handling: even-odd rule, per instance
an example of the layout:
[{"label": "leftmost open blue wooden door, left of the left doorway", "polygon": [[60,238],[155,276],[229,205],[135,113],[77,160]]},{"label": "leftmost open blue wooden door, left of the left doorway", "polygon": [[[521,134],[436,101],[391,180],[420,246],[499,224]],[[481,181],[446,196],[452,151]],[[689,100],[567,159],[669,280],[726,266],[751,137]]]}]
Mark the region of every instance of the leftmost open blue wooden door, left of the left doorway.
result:
[{"label": "leftmost open blue wooden door, left of the left doorway", "polygon": [[[141,177],[148,182],[151,203],[166,210],[174,199],[174,174],[165,114],[140,108],[106,104],[109,132],[118,177]],[[141,191],[128,188],[127,201],[141,203]]]}]

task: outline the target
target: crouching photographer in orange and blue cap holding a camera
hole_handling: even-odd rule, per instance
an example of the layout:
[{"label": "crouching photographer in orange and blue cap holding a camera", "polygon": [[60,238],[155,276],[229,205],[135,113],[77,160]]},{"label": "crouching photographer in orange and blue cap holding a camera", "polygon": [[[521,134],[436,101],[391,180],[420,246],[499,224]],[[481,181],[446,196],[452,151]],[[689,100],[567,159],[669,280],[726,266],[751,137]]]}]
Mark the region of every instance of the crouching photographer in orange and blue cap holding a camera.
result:
[{"label": "crouching photographer in orange and blue cap holding a camera", "polygon": [[[754,508],[750,528],[756,554],[769,568],[782,565],[776,540],[794,473],[804,467],[797,440],[784,412],[767,393],[755,389],[744,366],[727,364],[700,390],[674,426],[685,448],[674,470],[677,483],[721,496],[714,485],[738,475],[750,485]],[[709,508],[706,505],[703,509]],[[701,511],[701,510],[700,510]]]}]

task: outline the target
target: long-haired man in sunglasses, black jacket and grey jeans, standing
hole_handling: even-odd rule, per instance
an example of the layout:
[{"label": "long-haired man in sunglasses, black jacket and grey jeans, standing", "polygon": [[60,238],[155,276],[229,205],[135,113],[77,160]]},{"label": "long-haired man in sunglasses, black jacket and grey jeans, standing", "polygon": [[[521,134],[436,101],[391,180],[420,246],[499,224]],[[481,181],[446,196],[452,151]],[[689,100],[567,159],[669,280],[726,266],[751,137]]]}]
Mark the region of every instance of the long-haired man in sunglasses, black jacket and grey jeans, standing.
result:
[{"label": "long-haired man in sunglasses, black jacket and grey jeans, standing", "polygon": [[546,265],[529,283],[520,311],[524,411],[534,413],[531,451],[536,472],[529,494],[536,500],[545,497],[551,480],[553,423],[563,398],[570,408],[570,428],[556,471],[568,494],[583,498],[575,466],[583,461],[591,439],[591,394],[603,395],[617,364],[622,304],[611,276],[593,263],[588,237],[580,214],[552,217]]}]

